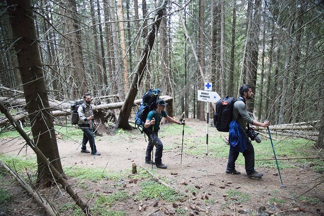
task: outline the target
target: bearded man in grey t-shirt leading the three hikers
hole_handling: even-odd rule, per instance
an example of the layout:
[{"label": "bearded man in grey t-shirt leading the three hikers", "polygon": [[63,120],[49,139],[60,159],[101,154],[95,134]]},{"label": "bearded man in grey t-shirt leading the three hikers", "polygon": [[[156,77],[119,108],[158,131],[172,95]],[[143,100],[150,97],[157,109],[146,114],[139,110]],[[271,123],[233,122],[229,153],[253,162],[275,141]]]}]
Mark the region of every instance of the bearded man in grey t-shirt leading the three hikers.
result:
[{"label": "bearded man in grey t-shirt leading the three hikers", "polygon": [[[246,140],[246,150],[243,151],[243,156],[245,159],[245,171],[247,177],[255,177],[261,178],[263,173],[258,173],[254,170],[254,148],[249,140],[248,136],[245,133],[245,128],[247,127],[247,123],[251,125],[256,125],[259,127],[267,128],[269,127],[269,121],[264,123],[257,122],[253,120],[248,111],[246,110],[246,101],[251,99],[253,96],[253,92],[250,85],[244,85],[239,88],[240,97],[234,103],[233,108],[233,120],[238,122],[238,125],[242,129],[243,139]],[[231,130],[231,129],[230,129]],[[238,159],[239,151],[236,151],[232,146],[230,147],[230,152],[228,155],[228,163],[226,168],[226,173],[228,174],[240,174],[239,171],[235,169],[235,161]]]}]

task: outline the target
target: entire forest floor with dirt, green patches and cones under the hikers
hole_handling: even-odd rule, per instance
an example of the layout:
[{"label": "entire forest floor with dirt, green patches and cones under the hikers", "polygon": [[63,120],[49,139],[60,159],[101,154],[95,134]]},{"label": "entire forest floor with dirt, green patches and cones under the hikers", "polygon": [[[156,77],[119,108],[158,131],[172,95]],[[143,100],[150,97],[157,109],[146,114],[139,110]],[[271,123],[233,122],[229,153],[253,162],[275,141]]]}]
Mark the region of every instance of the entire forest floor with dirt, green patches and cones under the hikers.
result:
[{"label": "entire forest floor with dirt, green patches and cones under the hikers", "polygon": [[[262,178],[248,178],[240,154],[241,163],[237,164],[237,170],[241,174],[226,174],[226,153],[219,156],[217,147],[213,147],[217,143],[219,148],[228,152],[228,146],[222,142],[226,133],[222,135],[215,128],[210,128],[209,136],[218,138],[217,141],[210,139],[209,154],[206,155],[203,141],[206,124],[195,119],[186,119],[186,123],[182,163],[182,126],[161,127],[160,138],[164,145],[162,162],[168,166],[166,170],[156,169],[155,166],[152,169],[151,165],[144,163],[147,143],[138,130],[119,130],[97,136],[96,146],[101,155],[95,158],[81,153],[78,142],[59,138],[61,162],[70,177],[68,183],[89,203],[93,215],[324,216],[324,174],[314,172],[311,169],[314,164],[285,161],[286,165],[291,166],[281,168],[284,187],[281,187],[274,160],[270,162],[273,163],[271,167],[262,166],[259,162],[256,164],[256,170],[264,173]],[[189,142],[193,145],[189,145]],[[2,138],[0,152],[17,155],[22,143],[22,140]],[[268,148],[272,151],[271,145]],[[256,150],[256,159],[260,154],[262,152]],[[35,154],[29,148],[23,148],[20,155],[26,160],[33,158],[35,161]],[[278,155],[281,157],[280,152]],[[137,165],[137,174],[131,173],[133,163]],[[140,167],[158,176],[173,189],[161,187]],[[0,200],[2,214],[41,215],[40,206],[33,203],[10,176],[3,171],[1,173],[0,191],[14,194],[2,205]],[[313,189],[321,181],[322,184]],[[62,215],[79,215],[80,209],[74,206],[73,200],[62,188],[60,190],[62,194],[58,187],[41,193],[56,204]]]}]

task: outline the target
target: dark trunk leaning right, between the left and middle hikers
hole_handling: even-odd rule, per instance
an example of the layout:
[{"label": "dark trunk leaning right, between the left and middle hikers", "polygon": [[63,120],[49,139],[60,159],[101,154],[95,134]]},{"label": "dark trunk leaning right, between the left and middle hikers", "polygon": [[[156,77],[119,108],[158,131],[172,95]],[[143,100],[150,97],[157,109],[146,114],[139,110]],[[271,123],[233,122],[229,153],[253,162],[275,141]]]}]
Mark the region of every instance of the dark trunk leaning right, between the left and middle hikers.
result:
[{"label": "dark trunk leaning right, between the left and middle hikers", "polygon": [[131,108],[132,108],[133,102],[135,100],[135,97],[137,95],[138,86],[140,85],[140,83],[142,81],[144,71],[145,71],[145,68],[148,63],[147,61],[150,58],[151,50],[153,48],[154,41],[155,41],[155,36],[159,29],[161,18],[163,16],[163,12],[166,9],[167,3],[168,3],[168,0],[160,0],[158,7],[156,8],[155,15],[153,16],[154,21],[151,24],[150,32],[145,40],[145,47],[142,51],[140,62],[137,67],[137,70],[136,70],[136,74],[133,77],[133,80],[132,80],[132,83],[130,86],[130,90],[126,96],[125,102],[123,104],[123,107],[120,110],[120,114],[119,114],[118,120],[116,122],[116,126],[115,126],[116,129],[119,129],[119,128],[131,129],[131,126],[128,122],[129,117],[130,117]]}]

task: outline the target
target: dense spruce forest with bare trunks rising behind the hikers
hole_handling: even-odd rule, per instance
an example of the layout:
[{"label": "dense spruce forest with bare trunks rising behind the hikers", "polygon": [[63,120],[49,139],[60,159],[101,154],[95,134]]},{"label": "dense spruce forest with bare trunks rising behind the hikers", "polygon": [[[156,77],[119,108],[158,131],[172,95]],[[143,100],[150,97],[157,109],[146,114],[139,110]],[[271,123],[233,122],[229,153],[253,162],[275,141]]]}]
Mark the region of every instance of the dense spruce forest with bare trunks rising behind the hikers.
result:
[{"label": "dense spruce forest with bare trunks rising behind the hikers", "polygon": [[70,103],[86,92],[106,135],[133,129],[149,89],[161,90],[171,117],[203,126],[215,110],[197,100],[204,83],[235,98],[249,84],[256,121],[321,153],[323,15],[323,0],[0,0],[0,133],[17,130],[37,154],[38,187],[54,177],[86,215],[54,129],[70,127]]}]

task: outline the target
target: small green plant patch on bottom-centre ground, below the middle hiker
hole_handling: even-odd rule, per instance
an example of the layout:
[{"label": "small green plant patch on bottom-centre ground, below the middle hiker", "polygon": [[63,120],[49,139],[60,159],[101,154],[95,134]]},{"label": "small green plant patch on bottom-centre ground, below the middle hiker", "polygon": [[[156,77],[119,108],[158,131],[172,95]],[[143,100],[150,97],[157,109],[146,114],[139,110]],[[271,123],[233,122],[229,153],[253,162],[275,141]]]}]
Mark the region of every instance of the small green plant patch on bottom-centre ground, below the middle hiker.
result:
[{"label": "small green plant patch on bottom-centre ground, below the middle hiker", "polygon": [[138,199],[164,199],[168,202],[175,202],[184,197],[184,195],[179,195],[173,189],[155,181],[143,181],[139,185],[141,191],[137,194]]}]

